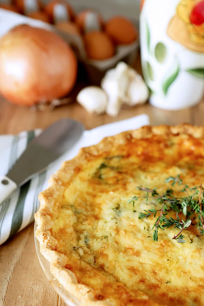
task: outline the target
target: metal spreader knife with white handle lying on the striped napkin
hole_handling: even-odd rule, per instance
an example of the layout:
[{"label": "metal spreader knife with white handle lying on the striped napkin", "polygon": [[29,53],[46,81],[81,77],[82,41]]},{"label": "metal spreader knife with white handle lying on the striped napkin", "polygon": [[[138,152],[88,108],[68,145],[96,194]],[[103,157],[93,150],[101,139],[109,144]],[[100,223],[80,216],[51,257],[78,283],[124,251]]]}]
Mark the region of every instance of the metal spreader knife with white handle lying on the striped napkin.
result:
[{"label": "metal spreader knife with white handle lying on the striped napkin", "polygon": [[5,176],[0,176],[0,205],[18,187],[46,170],[80,138],[84,128],[75,120],[63,118],[36,136]]}]

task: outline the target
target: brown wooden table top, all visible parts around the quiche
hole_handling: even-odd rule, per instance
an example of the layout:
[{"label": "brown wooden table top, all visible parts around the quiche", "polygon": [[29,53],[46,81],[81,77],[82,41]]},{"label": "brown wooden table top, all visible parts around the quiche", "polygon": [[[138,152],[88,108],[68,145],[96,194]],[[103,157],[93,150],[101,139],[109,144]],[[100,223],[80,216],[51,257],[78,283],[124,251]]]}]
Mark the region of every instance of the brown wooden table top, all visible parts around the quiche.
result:
[{"label": "brown wooden table top, all visible parts around the quiche", "polygon": [[[140,71],[140,61],[136,62]],[[182,122],[204,124],[204,99],[191,109],[165,111],[146,103],[124,107],[116,118],[106,114],[90,115],[77,103],[54,110],[32,112],[0,99],[0,134],[17,134],[22,130],[46,128],[63,117],[81,121],[86,129],[146,113],[151,125],[175,125]],[[39,264],[34,244],[34,223],[0,246],[0,306],[62,306],[63,300],[52,289]]]}]

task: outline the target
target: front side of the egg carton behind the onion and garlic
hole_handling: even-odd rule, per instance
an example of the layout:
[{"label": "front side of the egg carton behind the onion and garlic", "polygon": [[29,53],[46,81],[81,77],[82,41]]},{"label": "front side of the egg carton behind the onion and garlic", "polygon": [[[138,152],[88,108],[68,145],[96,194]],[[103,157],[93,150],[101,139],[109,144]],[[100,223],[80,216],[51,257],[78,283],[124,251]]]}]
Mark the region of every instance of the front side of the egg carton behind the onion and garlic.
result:
[{"label": "front side of the egg carton behind the onion and garlic", "polygon": [[11,28],[19,24],[29,24],[33,27],[44,28],[59,34],[67,43],[71,45],[80,63],[79,67],[83,67],[89,82],[95,85],[100,84],[100,81],[105,75],[106,71],[114,68],[118,62],[124,61],[128,65],[133,65],[139,49],[138,38],[131,44],[118,46],[116,49],[116,54],[111,58],[104,60],[92,60],[87,58],[83,39],[80,35],[65,33],[55,28],[54,25],[0,8],[0,37],[5,35]]}]

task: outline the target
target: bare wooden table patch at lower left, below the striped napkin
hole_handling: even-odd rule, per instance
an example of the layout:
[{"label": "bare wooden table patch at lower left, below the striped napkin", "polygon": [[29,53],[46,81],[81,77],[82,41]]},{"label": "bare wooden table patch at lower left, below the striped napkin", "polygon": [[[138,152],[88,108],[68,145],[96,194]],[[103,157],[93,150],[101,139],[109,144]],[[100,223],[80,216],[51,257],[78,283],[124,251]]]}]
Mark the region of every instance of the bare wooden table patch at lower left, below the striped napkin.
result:
[{"label": "bare wooden table patch at lower left, below the striped napkin", "polygon": [[57,305],[35,251],[33,223],[1,246],[0,305]]}]

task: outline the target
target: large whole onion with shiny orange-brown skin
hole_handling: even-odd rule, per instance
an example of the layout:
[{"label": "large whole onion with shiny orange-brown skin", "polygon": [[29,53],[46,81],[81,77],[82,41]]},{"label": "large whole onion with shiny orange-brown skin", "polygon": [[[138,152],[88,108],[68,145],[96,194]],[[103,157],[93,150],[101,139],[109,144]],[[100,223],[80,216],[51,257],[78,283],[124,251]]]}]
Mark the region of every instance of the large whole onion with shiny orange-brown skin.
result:
[{"label": "large whole onion with shiny orange-brown skin", "polygon": [[57,34],[24,24],[0,40],[0,71],[2,96],[15,104],[32,106],[72,90],[77,60]]}]

